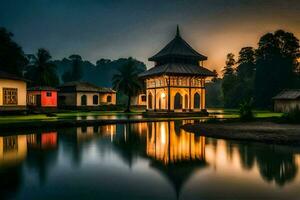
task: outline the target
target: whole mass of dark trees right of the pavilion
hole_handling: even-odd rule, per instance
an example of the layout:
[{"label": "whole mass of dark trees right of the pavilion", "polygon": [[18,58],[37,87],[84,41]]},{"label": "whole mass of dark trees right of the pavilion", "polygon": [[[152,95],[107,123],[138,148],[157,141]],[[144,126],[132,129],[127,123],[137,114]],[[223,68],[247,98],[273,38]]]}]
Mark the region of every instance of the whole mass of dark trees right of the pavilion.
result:
[{"label": "whole mass of dark trees right of the pavilion", "polygon": [[300,87],[299,58],[299,40],[293,33],[267,33],[257,49],[243,47],[237,59],[227,55],[223,77],[208,85],[207,102],[235,108],[253,99],[255,107],[271,108],[272,97],[281,90]]}]

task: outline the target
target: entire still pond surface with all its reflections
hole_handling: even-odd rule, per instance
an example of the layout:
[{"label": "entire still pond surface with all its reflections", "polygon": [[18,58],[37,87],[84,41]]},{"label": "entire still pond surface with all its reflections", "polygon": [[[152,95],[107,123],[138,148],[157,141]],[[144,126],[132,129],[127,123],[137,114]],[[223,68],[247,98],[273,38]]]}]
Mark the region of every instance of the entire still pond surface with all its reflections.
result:
[{"label": "entire still pond surface with all its reflections", "polygon": [[300,148],[199,137],[182,123],[0,136],[0,199],[300,198]]}]

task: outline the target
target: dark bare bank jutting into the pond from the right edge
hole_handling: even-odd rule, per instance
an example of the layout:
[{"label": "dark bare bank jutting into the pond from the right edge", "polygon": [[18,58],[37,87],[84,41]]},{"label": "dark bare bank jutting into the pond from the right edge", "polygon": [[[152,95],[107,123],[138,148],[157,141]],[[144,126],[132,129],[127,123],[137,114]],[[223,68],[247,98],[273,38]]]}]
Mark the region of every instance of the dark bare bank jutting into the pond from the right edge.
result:
[{"label": "dark bare bank jutting into the pond from the right edge", "polygon": [[267,144],[300,144],[299,124],[278,124],[272,121],[218,122],[185,124],[182,128],[199,136],[218,139]]}]

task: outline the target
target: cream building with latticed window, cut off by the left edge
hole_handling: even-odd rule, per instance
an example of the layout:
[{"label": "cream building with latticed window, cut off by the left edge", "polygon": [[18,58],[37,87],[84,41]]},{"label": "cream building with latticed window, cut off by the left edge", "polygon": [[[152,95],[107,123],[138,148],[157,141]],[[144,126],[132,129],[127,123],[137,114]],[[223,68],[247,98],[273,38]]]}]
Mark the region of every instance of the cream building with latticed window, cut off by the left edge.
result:
[{"label": "cream building with latticed window, cut off by the left edge", "polygon": [[26,110],[26,80],[0,71],[0,112]]}]

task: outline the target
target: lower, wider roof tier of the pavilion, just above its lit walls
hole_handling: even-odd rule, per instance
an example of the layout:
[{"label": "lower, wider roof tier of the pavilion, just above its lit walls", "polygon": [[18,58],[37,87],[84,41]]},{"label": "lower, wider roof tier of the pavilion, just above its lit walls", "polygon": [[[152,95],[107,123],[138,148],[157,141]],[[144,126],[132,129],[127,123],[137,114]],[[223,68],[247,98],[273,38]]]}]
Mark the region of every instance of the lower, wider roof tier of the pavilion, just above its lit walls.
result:
[{"label": "lower, wider roof tier of the pavilion, just above its lit walls", "polygon": [[151,69],[139,74],[139,77],[145,78],[157,75],[215,76],[215,74],[209,69],[196,64],[167,63],[152,67]]}]

